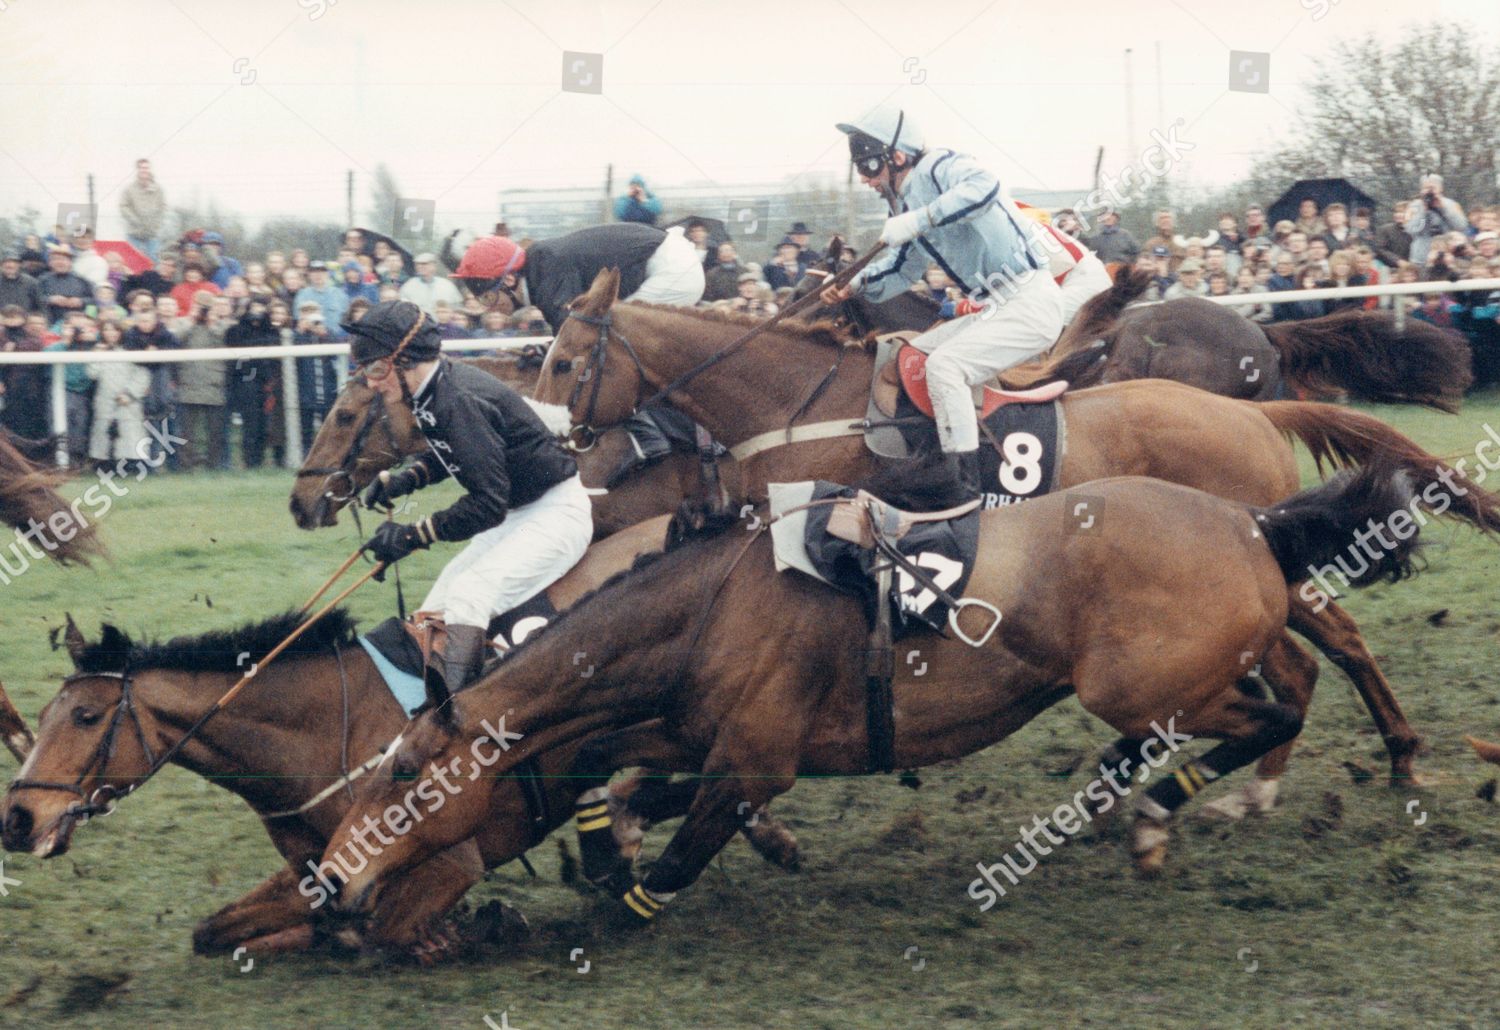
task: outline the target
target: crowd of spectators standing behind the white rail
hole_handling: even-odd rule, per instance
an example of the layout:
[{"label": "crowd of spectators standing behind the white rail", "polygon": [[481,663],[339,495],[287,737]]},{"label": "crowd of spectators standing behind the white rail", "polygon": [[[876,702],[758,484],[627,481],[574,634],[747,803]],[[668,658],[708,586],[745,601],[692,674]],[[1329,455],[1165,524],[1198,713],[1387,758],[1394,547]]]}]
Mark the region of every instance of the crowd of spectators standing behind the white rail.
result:
[{"label": "crowd of spectators standing behind the white rail", "polygon": [[[446,339],[546,334],[542,313],[489,310],[440,270],[452,265],[444,249],[410,258],[384,237],[350,229],[332,259],[304,249],[260,258],[231,256],[222,235],[194,229],[162,240],[165,196],[148,162],[123,192],[126,238],[152,264],[132,271],[111,249],[99,249],[88,228],[70,235],[27,235],[0,255],[0,351],[166,351],[306,345],[345,337],[340,322],[381,300],[410,300],[440,324]],[[615,204],[621,220],[656,223],[662,204],[644,178],[632,178]],[[1400,304],[1413,318],[1468,334],[1476,354],[1500,355],[1500,292],[1444,292],[1440,283],[1500,277],[1500,208],[1466,213],[1430,175],[1422,192],[1395,205],[1392,220],[1374,225],[1368,208],[1318,207],[1302,201],[1296,220],[1266,222],[1251,205],[1232,211],[1215,229],[1184,234],[1172,211],[1158,211],[1144,243],[1119,225],[1114,213],[1095,225],[1058,211],[1053,225],[1092,247],[1108,265],[1150,271],[1149,298],[1272,294],[1320,286],[1431,282],[1431,292],[1408,297],[1302,300],[1246,304],[1257,322],[1316,318],[1346,307]],[[504,226],[496,226],[508,232]],[[705,220],[688,220],[687,238],[705,270],[702,304],[771,316],[784,304],[819,255],[812,231],[794,222],[768,249],[764,262],[747,261],[734,241],[716,240]],[[934,301],[957,300],[957,289],[932,267],[915,286]],[[1500,361],[1497,361],[1500,364]],[[72,460],[80,465],[165,465],[170,469],[226,469],[231,438],[238,462],[258,468],[285,459],[285,405],[296,397],[303,441],[310,441],[338,390],[334,358],[300,358],[292,394],[278,358],[68,366],[66,414]],[[1476,369],[1480,379],[1500,379]],[[50,370],[0,369],[0,423],[27,438],[50,433]],[[164,445],[152,426],[164,426]],[[238,427],[232,433],[231,427]],[[182,442],[186,441],[186,442]],[[165,450],[165,453],[164,453]]]}]

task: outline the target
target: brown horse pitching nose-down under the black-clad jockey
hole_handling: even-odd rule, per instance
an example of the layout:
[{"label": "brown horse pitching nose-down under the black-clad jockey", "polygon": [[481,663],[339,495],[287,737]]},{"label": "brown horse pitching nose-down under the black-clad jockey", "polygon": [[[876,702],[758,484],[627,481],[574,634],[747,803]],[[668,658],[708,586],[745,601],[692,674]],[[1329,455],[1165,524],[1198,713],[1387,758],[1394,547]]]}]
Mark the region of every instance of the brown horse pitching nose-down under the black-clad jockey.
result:
[{"label": "brown horse pitching nose-down under the black-clad jockey", "polygon": [[[549,591],[552,603],[562,610],[640,553],[660,549],[666,522],[657,519],[591,547]],[[63,855],[80,822],[76,804],[98,787],[136,784],[150,768],[150,756],[174,745],[243,675],[238,655],[264,655],[294,625],[296,616],[282,616],[234,633],[146,646],[106,628],[90,646],[69,624],[76,672],[42,709],[36,745],[0,805],[6,850]],[[378,757],[405,724],[405,712],[354,642],[348,616],[336,612],[258,672],[236,703],[182,750],[176,763],[249,802],[286,859],[262,885],[200,924],[194,934],[198,952],[220,954],[242,945],[286,951],[314,943],[309,895],[298,883],[352,796],[351,790],[327,787],[340,787],[350,771]],[[363,943],[422,958],[446,949],[440,924],[484,870],[524,855],[573,814],[576,790],[564,774],[576,750],[570,745],[542,760],[540,799],[528,799],[518,780],[495,784],[490,825],[474,841],[412,870],[382,901]],[[696,772],[696,766],[669,759],[662,768]],[[76,784],[76,792],[69,784]],[[668,796],[668,810],[654,816],[681,816],[688,799]],[[758,850],[795,865],[795,840],[774,825],[762,828],[764,820],[756,834],[747,834]]]}]

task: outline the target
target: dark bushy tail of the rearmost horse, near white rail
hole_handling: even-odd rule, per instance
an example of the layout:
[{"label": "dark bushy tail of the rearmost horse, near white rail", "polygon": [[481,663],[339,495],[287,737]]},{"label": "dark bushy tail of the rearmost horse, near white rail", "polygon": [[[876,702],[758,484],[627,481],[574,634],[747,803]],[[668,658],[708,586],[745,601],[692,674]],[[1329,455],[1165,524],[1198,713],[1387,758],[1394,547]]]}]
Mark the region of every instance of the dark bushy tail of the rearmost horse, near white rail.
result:
[{"label": "dark bushy tail of the rearmost horse, near white rail", "polygon": [[1390,312],[1334,312],[1262,325],[1281,354],[1281,375],[1316,393],[1347,390],[1364,400],[1455,412],[1473,382],[1468,346],[1454,330]]}]

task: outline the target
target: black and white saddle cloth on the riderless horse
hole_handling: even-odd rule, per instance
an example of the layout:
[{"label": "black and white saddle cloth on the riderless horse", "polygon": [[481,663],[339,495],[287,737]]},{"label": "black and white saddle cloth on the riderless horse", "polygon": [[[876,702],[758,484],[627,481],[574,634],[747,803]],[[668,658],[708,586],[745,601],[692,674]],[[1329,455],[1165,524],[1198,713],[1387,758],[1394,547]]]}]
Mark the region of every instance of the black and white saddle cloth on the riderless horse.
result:
[{"label": "black and white saddle cloth on the riderless horse", "polygon": [[[777,571],[795,568],[861,598],[866,615],[873,622],[878,600],[874,567],[884,559],[872,549],[868,526],[860,528],[861,523],[849,517],[846,505],[810,504],[834,498],[854,499],[856,492],[824,480],[771,483],[768,490]],[[896,541],[902,556],[926,571],[948,594],[962,597],[980,547],[980,510],[969,508],[952,519],[924,520],[926,516],[885,505],[885,526],[890,528],[885,535]],[[896,616],[897,637],[918,630],[940,633],[948,624],[948,606],[904,570],[898,568],[891,577],[886,600]]]}]

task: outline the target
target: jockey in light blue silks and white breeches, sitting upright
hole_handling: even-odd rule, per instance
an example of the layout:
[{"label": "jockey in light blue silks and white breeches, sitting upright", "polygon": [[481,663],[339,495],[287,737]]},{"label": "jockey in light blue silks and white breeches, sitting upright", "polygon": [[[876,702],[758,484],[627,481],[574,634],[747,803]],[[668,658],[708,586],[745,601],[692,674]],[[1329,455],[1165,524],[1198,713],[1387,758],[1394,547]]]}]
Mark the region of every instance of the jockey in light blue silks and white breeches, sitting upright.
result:
[{"label": "jockey in light blue silks and white breeches, sitting upright", "polygon": [[860,178],[886,198],[891,217],[876,258],[825,304],[856,292],[882,301],[936,262],[980,312],[932,328],[912,346],[928,354],[927,388],[938,444],[963,498],[980,495],[980,426],[970,387],[1041,354],[1062,331],[1062,291],[1046,274],[1038,226],[1002,196],[999,180],[952,150],[926,150],[921,130],[900,108],[882,106],[840,123]]}]

